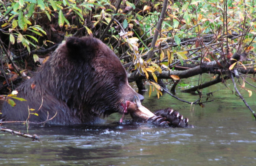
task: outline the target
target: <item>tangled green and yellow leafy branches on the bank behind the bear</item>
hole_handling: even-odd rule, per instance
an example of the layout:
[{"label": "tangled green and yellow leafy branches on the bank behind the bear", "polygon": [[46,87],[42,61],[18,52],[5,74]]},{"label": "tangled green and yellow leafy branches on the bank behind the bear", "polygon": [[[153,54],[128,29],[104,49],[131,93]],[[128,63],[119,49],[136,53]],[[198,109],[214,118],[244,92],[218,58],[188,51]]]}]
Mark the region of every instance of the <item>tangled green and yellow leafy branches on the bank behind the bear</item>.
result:
[{"label": "tangled green and yellow leafy branches on the bank behind the bear", "polygon": [[174,96],[166,85],[175,92],[177,84],[183,85],[181,79],[211,73],[211,80],[200,77],[197,86],[183,89],[199,95],[193,104],[203,107],[208,102],[202,96],[212,93],[202,94],[201,89],[231,79],[235,94],[256,118],[240,94],[251,96],[256,91],[248,82],[256,81],[254,4],[254,0],[0,0],[0,93],[8,94],[21,78],[33,75],[66,37],[90,35],[114,50],[129,81],[136,81],[140,90],[146,79],[149,94],[156,90],[158,97],[163,91]]}]

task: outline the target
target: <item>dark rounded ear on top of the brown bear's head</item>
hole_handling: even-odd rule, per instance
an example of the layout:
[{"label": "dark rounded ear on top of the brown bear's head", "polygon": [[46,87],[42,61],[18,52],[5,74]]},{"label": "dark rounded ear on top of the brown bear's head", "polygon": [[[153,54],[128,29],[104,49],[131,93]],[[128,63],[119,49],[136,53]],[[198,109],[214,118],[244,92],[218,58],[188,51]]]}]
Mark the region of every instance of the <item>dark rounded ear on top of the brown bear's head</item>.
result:
[{"label": "dark rounded ear on top of the brown bear's head", "polygon": [[69,37],[66,41],[66,46],[69,55],[81,56],[84,53],[93,53],[99,48],[100,40],[93,37]]}]

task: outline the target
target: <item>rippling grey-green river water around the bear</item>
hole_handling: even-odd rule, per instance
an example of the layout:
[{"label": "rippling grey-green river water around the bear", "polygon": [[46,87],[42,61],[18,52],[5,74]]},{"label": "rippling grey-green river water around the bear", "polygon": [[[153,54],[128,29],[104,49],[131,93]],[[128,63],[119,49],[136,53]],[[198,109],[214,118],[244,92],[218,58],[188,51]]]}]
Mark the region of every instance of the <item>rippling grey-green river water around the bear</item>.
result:
[{"label": "rippling grey-green river water around the bear", "polygon": [[[95,126],[30,126],[29,133],[40,136],[39,141],[0,132],[0,165],[255,166],[256,121],[242,100],[223,88],[223,84],[217,84],[203,90],[220,90],[204,108],[177,101],[168,94],[157,99],[156,94],[148,98],[145,93],[145,107],[172,107],[189,118],[189,124],[195,126],[192,129],[111,124],[122,117],[112,114],[105,124]],[[241,92],[255,110],[255,92],[250,98],[246,91]],[[191,102],[198,98],[181,92],[176,95]],[[3,126],[26,132],[23,125]]]}]

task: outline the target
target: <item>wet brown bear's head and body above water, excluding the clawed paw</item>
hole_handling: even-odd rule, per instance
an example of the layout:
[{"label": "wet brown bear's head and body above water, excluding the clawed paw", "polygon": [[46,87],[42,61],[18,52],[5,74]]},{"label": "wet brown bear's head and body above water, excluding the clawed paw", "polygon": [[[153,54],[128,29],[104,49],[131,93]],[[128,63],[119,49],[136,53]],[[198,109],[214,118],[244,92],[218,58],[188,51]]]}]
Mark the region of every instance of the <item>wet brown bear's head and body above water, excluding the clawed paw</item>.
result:
[{"label": "wet brown bear's head and body above water, excluding the clawed paw", "polygon": [[143,100],[128,84],[115,53],[92,37],[68,38],[16,90],[27,101],[14,99],[14,107],[5,102],[0,121],[29,117],[29,122],[49,125],[92,124],[101,115],[124,113],[126,101]]}]

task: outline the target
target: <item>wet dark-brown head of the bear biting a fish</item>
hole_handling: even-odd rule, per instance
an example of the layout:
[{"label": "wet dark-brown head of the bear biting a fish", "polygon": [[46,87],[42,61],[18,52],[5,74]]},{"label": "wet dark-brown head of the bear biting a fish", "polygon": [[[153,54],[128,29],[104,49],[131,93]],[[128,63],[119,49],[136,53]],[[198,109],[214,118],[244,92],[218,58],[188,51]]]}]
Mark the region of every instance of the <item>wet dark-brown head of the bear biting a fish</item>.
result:
[{"label": "wet dark-brown head of the bear biting a fish", "polygon": [[70,37],[46,62],[50,88],[83,121],[92,115],[124,113],[126,101],[137,94],[128,84],[126,71],[115,53],[92,37]]}]

